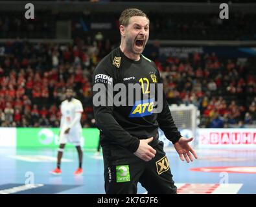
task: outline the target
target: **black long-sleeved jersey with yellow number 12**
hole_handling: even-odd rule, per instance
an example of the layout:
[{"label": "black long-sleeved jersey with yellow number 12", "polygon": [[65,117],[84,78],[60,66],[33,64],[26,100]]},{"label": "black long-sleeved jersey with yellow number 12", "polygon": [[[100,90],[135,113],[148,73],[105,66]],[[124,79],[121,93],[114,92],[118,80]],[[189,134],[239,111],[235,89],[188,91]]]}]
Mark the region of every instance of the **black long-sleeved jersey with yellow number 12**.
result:
[{"label": "black long-sleeved jersey with yellow number 12", "polygon": [[[96,94],[99,91],[93,91],[93,110],[95,114],[96,125],[100,129],[100,143],[102,146],[109,144],[119,144],[126,149],[134,152],[139,146],[139,139],[154,137],[150,144],[156,145],[159,140],[158,127],[160,127],[165,136],[173,143],[181,137],[172,116],[169,105],[163,95],[163,110],[160,113],[153,113],[154,103],[157,100],[157,91],[150,94],[148,85],[161,83],[159,71],[154,61],[149,60],[141,54],[138,61],[127,58],[118,47],[104,57],[93,72],[93,86],[96,83],[111,90],[113,96],[106,94],[106,105],[97,105]],[[122,83],[126,91],[113,91],[117,83]],[[128,85],[138,83],[141,85],[141,97],[136,100],[135,91],[132,93],[134,102],[129,105]],[[106,90],[107,91],[107,90]],[[107,105],[112,103],[113,97],[119,93],[125,99],[125,105]],[[149,93],[148,98],[144,98]],[[129,94],[130,95],[130,94]],[[115,98],[114,98],[115,101]],[[159,100],[157,100],[159,101]]]}]

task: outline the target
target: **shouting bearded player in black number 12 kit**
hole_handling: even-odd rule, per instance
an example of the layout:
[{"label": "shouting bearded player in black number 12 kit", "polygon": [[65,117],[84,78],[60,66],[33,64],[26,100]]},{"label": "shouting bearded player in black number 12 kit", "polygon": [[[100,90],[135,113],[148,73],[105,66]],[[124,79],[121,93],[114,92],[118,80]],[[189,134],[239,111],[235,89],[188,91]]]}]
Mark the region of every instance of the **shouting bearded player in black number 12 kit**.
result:
[{"label": "shouting bearded player in black number 12 kit", "polygon": [[[193,161],[192,156],[197,158],[189,146],[193,138],[181,136],[163,90],[156,87],[151,94],[152,84],[161,84],[161,78],[154,61],[142,54],[149,36],[148,17],[137,8],[128,8],[122,12],[119,23],[120,47],[104,57],[93,72],[93,109],[100,129],[105,191],[137,193],[140,182],[148,193],[177,193],[171,162],[159,140],[158,128],[174,144],[182,161]],[[127,90],[119,93],[115,90],[117,84]],[[128,93],[131,84],[139,85],[142,98],[136,99],[137,96]],[[160,93],[162,100],[158,98]],[[127,104],[115,104],[119,100],[115,98],[117,94]],[[148,98],[143,98],[148,94]],[[128,101],[134,97],[129,105]],[[161,103],[157,113],[156,101]]]}]

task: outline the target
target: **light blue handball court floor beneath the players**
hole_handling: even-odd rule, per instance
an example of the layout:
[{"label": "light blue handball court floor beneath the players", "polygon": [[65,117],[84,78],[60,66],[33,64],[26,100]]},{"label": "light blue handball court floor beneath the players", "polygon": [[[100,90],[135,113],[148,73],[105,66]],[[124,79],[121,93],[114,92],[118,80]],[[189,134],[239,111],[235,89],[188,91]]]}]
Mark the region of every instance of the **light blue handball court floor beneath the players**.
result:
[{"label": "light blue handball court floor beneath the players", "polygon": [[[197,149],[198,160],[182,162],[174,149],[167,151],[178,193],[256,193],[255,149]],[[104,193],[102,155],[84,151],[84,174],[75,148],[67,148],[62,175],[51,175],[57,149],[0,148],[0,194],[3,193]],[[138,193],[146,193],[138,185]]]}]

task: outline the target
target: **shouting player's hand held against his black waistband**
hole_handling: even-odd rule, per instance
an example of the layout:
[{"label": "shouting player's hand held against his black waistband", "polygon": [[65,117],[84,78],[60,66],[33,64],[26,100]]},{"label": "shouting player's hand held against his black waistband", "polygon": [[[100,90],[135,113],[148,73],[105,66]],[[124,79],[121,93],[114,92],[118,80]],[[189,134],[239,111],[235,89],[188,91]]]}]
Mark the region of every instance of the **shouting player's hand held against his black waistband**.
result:
[{"label": "shouting player's hand held against his black waistband", "polygon": [[134,155],[141,158],[142,160],[148,162],[156,155],[156,150],[148,145],[149,142],[152,142],[153,137],[147,138],[146,140],[139,140],[139,147],[135,151]]}]

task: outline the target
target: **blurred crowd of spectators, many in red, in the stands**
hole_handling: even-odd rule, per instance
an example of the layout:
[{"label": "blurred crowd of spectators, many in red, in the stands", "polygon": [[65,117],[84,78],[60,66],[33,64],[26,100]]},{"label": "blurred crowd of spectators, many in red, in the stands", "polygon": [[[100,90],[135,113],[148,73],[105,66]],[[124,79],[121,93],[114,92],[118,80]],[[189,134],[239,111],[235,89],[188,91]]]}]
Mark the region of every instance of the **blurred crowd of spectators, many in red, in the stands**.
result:
[{"label": "blurred crowd of spectators, many in red, in the stands", "polygon": [[[73,44],[1,43],[0,125],[58,127],[65,87],[73,86],[84,105],[82,126],[93,127],[91,75],[113,47],[108,39],[89,37]],[[200,127],[256,124],[256,79],[248,61],[196,52],[187,59],[150,58],[161,72],[169,104],[196,105]]]}]

